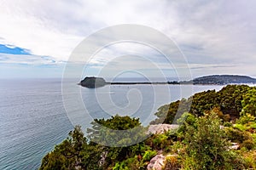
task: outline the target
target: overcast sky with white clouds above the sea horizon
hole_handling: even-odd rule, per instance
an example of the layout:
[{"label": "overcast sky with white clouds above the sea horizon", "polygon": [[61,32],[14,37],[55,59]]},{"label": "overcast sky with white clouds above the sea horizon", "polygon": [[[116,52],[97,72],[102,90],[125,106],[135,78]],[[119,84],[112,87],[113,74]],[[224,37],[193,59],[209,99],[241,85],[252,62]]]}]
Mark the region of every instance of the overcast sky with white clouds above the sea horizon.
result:
[{"label": "overcast sky with white clouds above the sea horizon", "polygon": [[[142,42],[114,42],[101,47],[90,61],[76,63],[84,67],[81,77],[99,72],[104,77],[158,77],[157,70],[181,79],[212,74],[256,77],[253,0],[2,0],[0,8],[0,78],[62,77],[80,42],[123,24],[160,31],[173,42],[166,48],[176,48],[177,58],[184,60],[173,54],[170,63],[157,48]],[[167,46],[160,37],[154,39]],[[189,75],[183,69],[189,69]]]}]

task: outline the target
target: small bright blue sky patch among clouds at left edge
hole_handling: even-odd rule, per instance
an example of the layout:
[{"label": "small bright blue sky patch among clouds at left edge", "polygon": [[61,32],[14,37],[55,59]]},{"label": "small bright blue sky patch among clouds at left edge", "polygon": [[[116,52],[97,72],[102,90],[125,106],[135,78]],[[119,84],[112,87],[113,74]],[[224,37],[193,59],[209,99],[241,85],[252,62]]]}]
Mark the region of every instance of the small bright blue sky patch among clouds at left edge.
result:
[{"label": "small bright blue sky patch among clouds at left edge", "polygon": [[0,53],[2,54],[30,54],[30,51],[25,48],[13,47],[0,44]]}]

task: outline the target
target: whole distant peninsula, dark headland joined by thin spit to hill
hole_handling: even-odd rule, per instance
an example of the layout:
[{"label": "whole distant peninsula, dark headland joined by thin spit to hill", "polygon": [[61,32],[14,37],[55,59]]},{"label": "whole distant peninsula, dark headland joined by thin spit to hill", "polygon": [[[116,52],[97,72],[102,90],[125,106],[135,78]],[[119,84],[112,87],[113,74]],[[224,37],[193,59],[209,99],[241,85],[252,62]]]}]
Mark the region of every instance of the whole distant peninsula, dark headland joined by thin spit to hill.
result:
[{"label": "whole distant peninsula, dark headland joined by thin spit to hill", "polygon": [[135,85],[135,84],[196,84],[196,85],[226,85],[226,84],[256,83],[256,79],[239,75],[212,75],[198,77],[189,81],[173,82],[106,82],[102,77],[85,77],[79,85],[85,88],[100,88],[105,85]]}]

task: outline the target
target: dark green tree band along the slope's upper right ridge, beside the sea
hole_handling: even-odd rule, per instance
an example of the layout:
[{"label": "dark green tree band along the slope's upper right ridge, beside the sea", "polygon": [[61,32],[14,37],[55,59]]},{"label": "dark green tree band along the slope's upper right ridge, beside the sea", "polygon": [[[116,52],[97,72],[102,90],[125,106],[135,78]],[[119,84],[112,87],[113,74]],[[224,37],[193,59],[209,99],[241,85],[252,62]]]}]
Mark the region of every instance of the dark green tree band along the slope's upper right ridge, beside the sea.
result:
[{"label": "dark green tree band along the slope's upper right ridge, beside the sea", "polygon": [[184,112],[203,116],[206,111],[212,110],[218,110],[215,112],[218,112],[225,122],[234,120],[240,116],[241,111],[256,111],[255,92],[256,88],[247,85],[227,85],[218,92],[207,90],[197,93],[189,99],[177,100],[170,105],[161,106],[155,113],[158,119],[151,124],[162,122],[172,124],[175,116],[180,117]]}]

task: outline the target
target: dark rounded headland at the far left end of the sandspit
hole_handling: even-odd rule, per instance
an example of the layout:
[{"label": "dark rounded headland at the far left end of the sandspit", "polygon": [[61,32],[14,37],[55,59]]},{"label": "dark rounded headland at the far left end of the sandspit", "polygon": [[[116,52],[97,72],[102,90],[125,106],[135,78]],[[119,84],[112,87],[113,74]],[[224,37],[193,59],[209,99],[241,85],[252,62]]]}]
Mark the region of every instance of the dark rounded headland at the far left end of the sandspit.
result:
[{"label": "dark rounded headland at the far left end of the sandspit", "polygon": [[85,88],[100,88],[105,86],[106,81],[102,77],[85,77],[79,85]]}]

